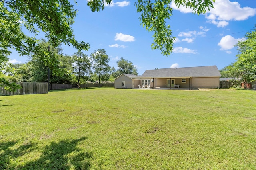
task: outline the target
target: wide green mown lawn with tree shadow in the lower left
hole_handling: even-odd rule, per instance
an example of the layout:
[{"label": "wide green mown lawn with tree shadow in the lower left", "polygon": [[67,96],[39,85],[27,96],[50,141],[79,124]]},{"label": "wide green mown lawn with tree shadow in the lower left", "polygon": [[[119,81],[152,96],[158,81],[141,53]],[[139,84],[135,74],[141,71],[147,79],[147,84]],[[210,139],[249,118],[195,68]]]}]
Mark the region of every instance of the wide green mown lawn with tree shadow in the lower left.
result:
[{"label": "wide green mown lawn with tree shadow in the lower left", "polygon": [[255,170],[256,91],[0,96],[0,169]]}]

